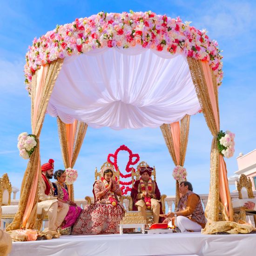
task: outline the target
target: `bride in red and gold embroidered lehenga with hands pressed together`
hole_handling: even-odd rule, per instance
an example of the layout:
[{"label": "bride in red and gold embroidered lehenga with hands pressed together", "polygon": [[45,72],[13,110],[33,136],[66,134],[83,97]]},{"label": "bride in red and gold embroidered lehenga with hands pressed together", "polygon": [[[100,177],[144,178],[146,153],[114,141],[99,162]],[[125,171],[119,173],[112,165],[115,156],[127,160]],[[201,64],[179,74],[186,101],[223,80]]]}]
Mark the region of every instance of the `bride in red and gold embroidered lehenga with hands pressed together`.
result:
[{"label": "bride in red and gold embroidered lehenga with hands pressed together", "polygon": [[95,203],[85,206],[74,224],[72,235],[119,233],[118,224],[124,216],[124,208],[117,198],[122,195],[121,189],[112,176],[112,169],[101,168],[101,180],[94,182]]}]

